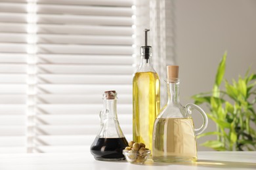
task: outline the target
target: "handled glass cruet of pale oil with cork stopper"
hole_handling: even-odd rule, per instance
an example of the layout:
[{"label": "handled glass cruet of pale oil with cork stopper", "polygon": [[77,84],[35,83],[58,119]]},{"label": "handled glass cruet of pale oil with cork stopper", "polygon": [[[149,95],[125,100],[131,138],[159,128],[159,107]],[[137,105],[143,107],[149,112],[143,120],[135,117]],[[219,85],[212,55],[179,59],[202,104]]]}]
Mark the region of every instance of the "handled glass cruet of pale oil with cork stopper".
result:
[{"label": "handled glass cruet of pale oil with cork stopper", "polygon": [[[167,66],[168,101],[154,122],[152,158],[156,162],[196,161],[196,135],[207,127],[205,112],[194,104],[183,107],[179,101],[179,66]],[[195,129],[192,109],[198,110],[203,125]]]}]

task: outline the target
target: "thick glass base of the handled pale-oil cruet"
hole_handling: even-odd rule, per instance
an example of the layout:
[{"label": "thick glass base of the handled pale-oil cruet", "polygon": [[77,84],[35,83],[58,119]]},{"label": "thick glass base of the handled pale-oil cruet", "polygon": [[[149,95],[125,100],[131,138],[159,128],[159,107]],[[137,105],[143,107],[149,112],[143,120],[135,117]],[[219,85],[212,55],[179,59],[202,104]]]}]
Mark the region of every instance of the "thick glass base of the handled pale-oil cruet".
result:
[{"label": "thick glass base of the handled pale-oil cruet", "polygon": [[196,160],[198,160],[197,157],[187,157],[187,156],[158,156],[158,157],[153,157],[154,162],[164,162],[164,163],[194,162]]}]

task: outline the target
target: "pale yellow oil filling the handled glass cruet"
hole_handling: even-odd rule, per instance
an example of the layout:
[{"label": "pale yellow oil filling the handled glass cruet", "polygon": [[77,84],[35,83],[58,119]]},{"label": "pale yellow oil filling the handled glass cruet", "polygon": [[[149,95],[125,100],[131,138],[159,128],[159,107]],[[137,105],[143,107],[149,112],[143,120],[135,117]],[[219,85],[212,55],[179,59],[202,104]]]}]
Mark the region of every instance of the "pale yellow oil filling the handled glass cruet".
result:
[{"label": "pale yellow oil filling the handled glass cruet", "polygon": [[196,139],[192,118],[157,118],[155,161],[196,161]]}]

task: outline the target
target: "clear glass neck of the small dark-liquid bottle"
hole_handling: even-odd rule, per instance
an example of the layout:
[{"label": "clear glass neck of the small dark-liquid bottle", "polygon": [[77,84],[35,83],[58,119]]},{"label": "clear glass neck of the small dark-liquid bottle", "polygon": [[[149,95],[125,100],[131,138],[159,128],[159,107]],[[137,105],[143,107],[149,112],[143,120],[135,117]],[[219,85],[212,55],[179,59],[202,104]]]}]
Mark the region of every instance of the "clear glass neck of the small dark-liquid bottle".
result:
[{"label": "clear glass neck of the small dark-liquid bottle", "polygon": [[104,110],[106,111],[105,119],[116,119],[116,101],[117,99],[104,99]]}]

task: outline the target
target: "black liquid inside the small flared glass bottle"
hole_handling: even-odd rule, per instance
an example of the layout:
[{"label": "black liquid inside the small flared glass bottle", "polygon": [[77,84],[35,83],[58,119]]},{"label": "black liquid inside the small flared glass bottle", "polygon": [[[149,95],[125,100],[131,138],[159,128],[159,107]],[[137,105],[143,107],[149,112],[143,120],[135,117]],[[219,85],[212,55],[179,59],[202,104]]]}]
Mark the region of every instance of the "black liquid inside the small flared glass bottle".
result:
[{"label": "black liquid inside the small flared glass bottle", "polygon": [[95,160],[124,160],[122,152],[128,142],[121,138],[96,138],[91,145],[91,154]]}]

